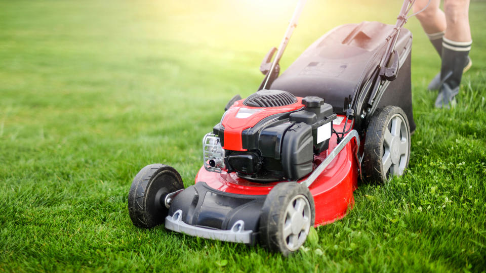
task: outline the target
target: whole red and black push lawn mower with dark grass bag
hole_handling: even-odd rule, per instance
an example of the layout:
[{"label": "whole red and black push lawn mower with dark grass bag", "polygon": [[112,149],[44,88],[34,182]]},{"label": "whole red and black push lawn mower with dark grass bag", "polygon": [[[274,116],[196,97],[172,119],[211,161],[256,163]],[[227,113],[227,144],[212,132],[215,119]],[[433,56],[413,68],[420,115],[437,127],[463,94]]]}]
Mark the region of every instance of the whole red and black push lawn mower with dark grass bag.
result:
[{"label": "whole red and black push lawn mower with dark grass bag", "polygon": [[[406,168],[410,155],[410,153],[402,151],[402,144],[405,146],[408,144],[408,151],[410,151],[410,132],[414,131],[415,123],[412,114],[410,83],[412,35],[408,30],[400,30],[403,24],[407,22],[409,18],[407,14],[411,10],[414,2],[415,0],[404,0],[395,26],[384,25],[378,22],[363,22],[359,25],[350,24],[335,28],[312,44],[286,72],[278,76],[278,61],[286,48],[288,39],[297,25],[298,17],[305,3],[305,0],[301,0],[280,47],[278,50],[275,48],[270,50],[264,62],[262,62],[260,71],[265,74],[265,78],[259,90],[265,93],[268,89],[267,87],[269,87],[269,89],[273,92],[277,91],[277,93],[290,92],[289,94],[293,94],[291,96],[296,96],[294,97],[296,104],[300,104],[300,100],[304,97],[306,100],[308,98],[311,101],[314,100],[310,104],[308,103],[309,101],[304,103],[302,100],[302,104],[305,105],[304,112],[310,111],[316,113],[316,115],[319,115],[321,121],[326,120],[328,123],[332,122],[331,129],[334,133],[331,134],[330,139],[328,136],[325,146],[320,146],[321,148],[325,147],[324,150],[321,149],[316,152],[315,149],[320,148],[316,148],[314,139],[313,161],[307,161],[309,163],[305,167],[310,173],[306,172],[307,175],[304,177],[302,175],[292,176],[286,174],[280,176],[280,179],[277,179],[279,181],[270,179],[269,181],[272,182],[266,183],[268,181],[258,180],[260,177],[255,172],[250,172],[256,175],[251,177],[242,176],[241,172],[243,174],[246,172],[241,171],[241,169],[239,169],[240,173],[235,173],[235,169],[231,168],[231,162],[229,162],[231,163],[230,168],[225,169],[224,164],[221,165],[222,167],[217,165],[221,167],[221,171],[214,171],[214,164],[211,165],[212,160],[206,161],[205,159],[203,167],[199,169],[195,177],[195,184],[184,189],[182,178],[174,168],[163,164],[148,165],[134,178],[129,193],[129,213],[134,224],[150,228],[165,221],[165,227],[175,232],[201,238],[245,244],[253,244],[260,241],[271,250],[280,251],[286,256],[290,252],[298,250],[305,242],[310,225],[319,226],[331,223],[343,218],[347,214],[348,210],[354,205],[353,192],[357,189],[358,173],[360,176],[367,175],[367,179],[372,177],[382,182],[387,180],[384,175],[387,175],[386,171],[391,165],[387,165],[387,168],[382,169],[384,164],[381,161],[377,165],[378,168],[373,165],[373,162],[379,162],[380,159],[385,160],[384,156],[388,153],[388,161],[391,157],[390,155],[393,157],[391,157],[391,161],[387,162],[392,162],[394,167],[396,165],[398,172],[396,170],[393,172],[396,172],[396,175],[401,175],[398,165],[401,166],[403,160],[404,166],[402,168]],[[341,34],[345,34],[338,32],[338,30],[345,27],[353,29],[346,36],[338,37]],[[375,37],[376,33],[390,34],[388,34],[386,39],[380,36],[381,38],[378,37],[374,40],[373,37]],[[336,43],[341,38],[344,40]],[[321,45],[323,47],[325,45],[327,46],[327,40],[331,41],[338,48],[319,48]],[[379,44],[376,42],[379,42]],[[370,53],[373,52],[373,55],[368,56],[369,54],[366,53],[366,50]],[[270,62],[275,52],[276,56]],[[336,56],[326,57],[322,55],[323,52],[345,52],[346,55],[342,57],[348,60],[347,62],[350,64],[355,63],[355,60],[359,59],[359,56],[362,57],[361,59],[368,58],[368,61],[364,67],[361,67],[361,65],[365,63],[360,63],[362,61],[357,62],[354,66],[351,66],[357,70],[349,70],[349,73],[352,75],[345,75],[340,73],[344,71],[343,69],[347,67],[347,64],[337,63],[334,61]],[[334,67],[336,65],[338,67]],[[312,70],[308,68],[310,66],[316,66],[317,69],[313,68]],[[401,76],[398,77],[399,79],[395,80],[400,69],[406,69],[407,72],[404,75],[400,73]],[[338,74],[326,74],[326,71],[338,70],[341,71]],[[302,71],[311,71],[313,74],[304,76],[307,81],[303,81]],[[357,71],[361,71],[359,72],[361,74],[360,78],[353,76],[357,75]],[[320,73],[320,76],[316,76],[317,74],[315,73]],[[312,75],[315,76],[313,79]],[[394,82],[391,83],[391,81]],[[335,82],[334,85],[330,84],[331,82]],[[352,89],[347,86],[349,82],[355,84],[354,92],[353,94],[346,95],[344,98],[344,106],[341,107],[340,105],[342,104],[339,103],[340,98]],[[303,83],[308,83],[308,85],[303,86]],[[323,87],[329,88],[329,90],[322,89]],[[390,92],[385,92],[387,89],[390,89]],[[335,111],[332,116],[322,116],[324,112],[315,112],[315,109],[311,109],[315,107],[311,106],[311,104],[315,103],[316,99],[317,101],[322,100],[322,103],[324,103],[324,100],[320,98],[322,97],[321,94],[326,95],[324,97],[329,99],[332,106],[331,109],[334,108]],[[338,96],[336,97],[338,101],[336,101],[336,98],[333,99],[332,96]],[[299,101],[297,97],[300,97]],[[234,98],[232,102],[233,100]],[[319,105],[322,105],[322,103]],[[257,107],[266,107],[268,111],[272,106]],[[322,108],[320,109],[322,110]],[[288,109],[288,111],[291,110],[298,109]],[[377,110],[376,113],[375,110]],[[338,118],[336,118],[336,114]],[[335,118],[336,120],[334,120]],[[369,118],[374,119],[375,122],[367,125]],[[290,120],[292,121],[292,117]],[[345,121],[343,122],[343,120]],[[384,123],[385,120],[387,120],[386,123]],[[410,121],[410,126],[407,120]],[[307,126],[312,126],[312,130],[317,128],[316,126],[321,126],[317,123],[304,122],[308,124]],[[225,130],[222,125],[224,125],[223,119],[220,124],[215,126],[214,135],[222,134],[222,130]],[[231,125],[229,127],[232,128]],[[296,129],[292,127],[292,130],[297,131],[298,128],[298,126]],[[376,131],[376,128],[379,131]],[[368,142],[364,143],[364,138],[368,130],[374,131],[369,131]],[[390,135],[392,130],[394,133]],[[388,135],[386,135],[387,131]],[[241,132],[239,131],[236,139],[233,136],[232,141],[229,141],[230,144],[228,147],[223,146],[223,139],[221,138],[221,146],[230,151],[228,157],[233,156],[231,151],[247,151],[245,147],[240,147]],[[315,138],[314,132],[312,132],[312,135]],[[319,139],[318,136],[317,139]],[[219,141],[220,139],[218,139]],[[360,145],[360,141],[363,142],[363,145]],[[404,142],[402,143],[402,141]],[[206,142],[206,136],[203,142]],[[379,156],[376,151],[379,150],[381,153],[382,149],[385,149],[384,142],[387,143],[388,152],[383,150],[384,154],[380,158],[371,159],[371,154],[374,153]],[[317,144],[319,143],[317,142]],[[379,144],[381,148],[376,148],[370,143]],[[397,149],[398,145],[396,144],[400,144],[400,149]],[[227,145],[228,143],[225,146]],[[403,147],[407,148],[405,146]],[[266,149],[265,146],[260,148]],[[368,152],[366,153],[366,151]],[[224,152],[222,153],[224,154]],[[235,157],[239,157],[240,155],[234,154]],[[288,160],[289,155],[286,154],[286,160]],[[248,156],[252,157],[250,154]],[[363,160],[362,157],[365,157],[365,159]],[[221,158],[221,156],[217,158]],[[312,158],[312,155],[310,155],[310,158]],[[279,160],[279,157],[275,159]],[[363,161],[363,170],[361,170],[361,161]],[[207,164],[208,162],[209,164]],[[296,162],[295,164],[297,165],[295,166],[304,164],[298,163],[299,161]],[[283,161],[281,163],[284,164]],[[206,165],[211,165],[213,169],[207,168]],[[236,168],[236,170],[238,169]],[[271,171],[274,169],[269,168],[268,170]],[[284,168],[284,171],[287,170]],[[295,168],[290,172],[294,170],[299,171],[299,169]],[[259,170],[257,169],[256,171]],[[160,180],[159,175],[163,175],[166,177],[164,179],[167,179],[167,182],[162,183],[165,185],[162,185],[163,187],[157,182],[157,179]],[[291,181],[288,180],[289,177],[291,177],[290,179],[302,178]],[[158,186],[155,185],[157,183]],[[151,185],[158,187],[155,189],[156,192],[151,191]],[[161,196],[165,197],[160,198]],[[139,200],[143,200],[143,202]],[[155,203],[149,204],[147,200],[151,200],[151,202],[155,200]],[[299,205],[302,203],[301,201],[305,203],[302,206]],[[274,208],[278,209],[272,210]],[[293,209],[291,210],[293,213],[292,216],[288,214],[289,208]],[[311,211],[310,213],[309,209]],[[275,211],[280,214],[276,214]],[[165,220],[164,216],[157,217],[157,215],[164,215]],[[287,240],[284,242],[281,236],[285,234],[284,231],[286,229],[289,231],[288,217],[291,217],[291,219],[289,218],[289,222],[291,223],[290,228],[293,233],[291,235],[293,239],[291,240],[291,237],[284,235],[283,240]],[[294,226],[294,222],[298,224]],[[285,226],[284,230],[277,229],[278,226]],[[302,229],[304,226],[307,226],[306,230]],[[305,233],[305,236],[301,237],[302,233]],[[303,241],[301,238],[303,238]],[[285,247],[282,244],[285,244]]]}]

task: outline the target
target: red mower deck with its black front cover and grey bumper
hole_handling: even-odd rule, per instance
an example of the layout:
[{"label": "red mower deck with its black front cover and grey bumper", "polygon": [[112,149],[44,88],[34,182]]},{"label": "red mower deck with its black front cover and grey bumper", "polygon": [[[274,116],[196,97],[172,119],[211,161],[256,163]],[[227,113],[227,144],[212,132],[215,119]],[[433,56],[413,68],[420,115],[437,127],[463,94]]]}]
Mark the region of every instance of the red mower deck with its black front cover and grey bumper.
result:
[{"label": "red mower deck with its black front cover and grey bumper", "polygon": [[[344,121],[337,120],[341,123],[333,126],[342,131]],[[346,127],[350,126],[352,122],[348,121]],[[329,149],[314,157],[319,164],[314,164],[313,172],[297,181],[312,194],[315,227],[343,218],[353,207],[359,148],[356,130],[346,134],[339,144],[333,134]],[[195,185],[166,198],[169,214],[165,227],[201,238],[254,244],[258,240],[261,206],[272,188],[281,182],[253,183],[235,173],[210,172],[201,167]]]}]

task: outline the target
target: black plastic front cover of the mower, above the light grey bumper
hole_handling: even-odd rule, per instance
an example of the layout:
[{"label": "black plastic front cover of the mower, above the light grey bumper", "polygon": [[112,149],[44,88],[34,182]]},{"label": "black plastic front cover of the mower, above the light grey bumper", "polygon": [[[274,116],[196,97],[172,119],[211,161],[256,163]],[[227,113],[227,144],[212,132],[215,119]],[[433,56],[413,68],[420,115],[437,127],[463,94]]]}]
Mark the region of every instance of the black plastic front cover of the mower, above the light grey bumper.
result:
[{"label": "black plastic front cover of the mower, above the light grey bumper", "polygon": [[237,220],[245,230],[258,234],[258,224],[266,195],[241,195],[217,191],[198,182],[180,192],[172,201],[169,215],[182,210],[182,221],[201,228],[229,230]]}]

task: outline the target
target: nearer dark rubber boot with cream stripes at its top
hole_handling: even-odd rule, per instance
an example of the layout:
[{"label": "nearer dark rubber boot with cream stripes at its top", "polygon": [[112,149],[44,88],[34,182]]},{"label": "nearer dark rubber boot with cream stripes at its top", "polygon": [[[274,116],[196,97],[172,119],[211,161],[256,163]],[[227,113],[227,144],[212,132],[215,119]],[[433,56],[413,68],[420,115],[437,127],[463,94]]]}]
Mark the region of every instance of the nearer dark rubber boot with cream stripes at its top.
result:
[{"label": "nearer dark rubber boot with cream stripes at its top", "polygon": [[462,73],[468,62],[471,43],[456,42],[442,38],[442,65],[440,67],[439,94],[435,107],[450,108],[456,105],[456,95],[459,94]]}]

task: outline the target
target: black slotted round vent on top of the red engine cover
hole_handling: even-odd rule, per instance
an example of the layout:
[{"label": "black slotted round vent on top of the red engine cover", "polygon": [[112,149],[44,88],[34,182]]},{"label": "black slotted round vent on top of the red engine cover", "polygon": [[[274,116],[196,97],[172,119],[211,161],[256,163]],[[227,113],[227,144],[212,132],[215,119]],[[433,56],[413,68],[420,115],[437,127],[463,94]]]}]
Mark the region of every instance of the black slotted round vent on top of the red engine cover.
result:
[{"label": "black slotted round vent on top of the red engine cover", "polygon": [[243,102],[243,105],[251,107],[277,107],[291,105],[297,102],[297,98],[284,90],[260,90]]}]

